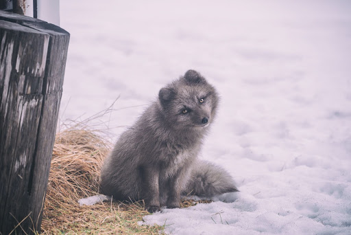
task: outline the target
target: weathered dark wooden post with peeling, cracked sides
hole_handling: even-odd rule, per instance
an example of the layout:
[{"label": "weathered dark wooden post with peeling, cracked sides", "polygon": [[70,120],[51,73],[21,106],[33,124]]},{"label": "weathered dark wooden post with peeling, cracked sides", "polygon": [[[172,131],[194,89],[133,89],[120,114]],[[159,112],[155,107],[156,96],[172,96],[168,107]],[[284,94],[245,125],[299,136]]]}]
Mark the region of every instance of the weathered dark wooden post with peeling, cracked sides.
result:
[{"label": "weathered dark wooden post with peeling, cracked sides", "polygon": [[69,33],[0,10],[0,234],[40,232]]}]

